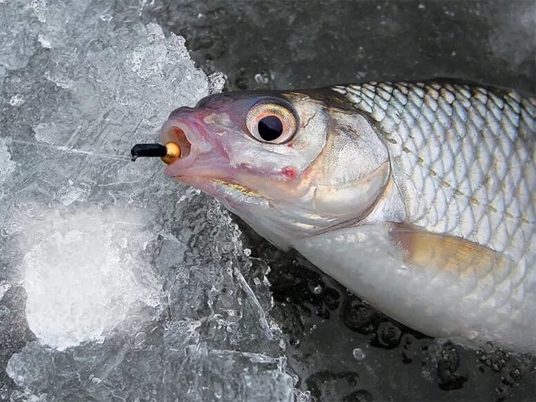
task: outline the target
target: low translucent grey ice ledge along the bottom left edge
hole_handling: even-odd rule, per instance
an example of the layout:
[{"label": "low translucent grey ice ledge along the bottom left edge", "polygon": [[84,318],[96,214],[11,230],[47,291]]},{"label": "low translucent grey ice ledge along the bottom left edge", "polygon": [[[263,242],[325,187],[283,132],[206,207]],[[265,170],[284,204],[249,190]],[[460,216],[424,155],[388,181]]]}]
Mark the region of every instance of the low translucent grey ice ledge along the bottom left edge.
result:
[{"label": "low translucent grey ice ledge along the bottom left edge", "polygon": [[[176,328],[178,329],[178,328]],[[182,328],[184,329],[184,327]],[[159,337],[160,335],[160,337]],[[8,364],[8,374],[26,398],[46,392],[58,400],[154,399],[156,401],[256,401],[291,402],[294,387],[285,374],[285,358],[263,354],[216,350],[207,344],[167,344],[153,332],[145,347],[126,346],[108,338],[103,345],[58,352],[29,343]],[[107,348],[108,355],[103,353]],[[94,356],[88,365],[80,359]],[[28,365],[35,361],[38,364]],[[72,375],[71,373],[78,375]],[[153,383],[151,383],[153,381]],[[35,394],[31,394],[33,390]],[[302,399],[306,401],[307,399]]]}]

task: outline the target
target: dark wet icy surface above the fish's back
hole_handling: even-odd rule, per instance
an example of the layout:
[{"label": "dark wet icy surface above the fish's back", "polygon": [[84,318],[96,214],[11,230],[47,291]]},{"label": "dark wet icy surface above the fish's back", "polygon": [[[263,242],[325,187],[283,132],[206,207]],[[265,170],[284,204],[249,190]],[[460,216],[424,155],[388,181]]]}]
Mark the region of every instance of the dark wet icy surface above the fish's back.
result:
[{"label": "dark wet icy surface above the fish's back", "polygon": [[536,93],[533,0],[162,0],[148,12],[233,90],[444,77]]}]

